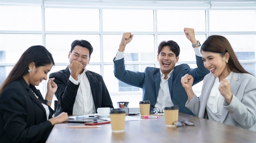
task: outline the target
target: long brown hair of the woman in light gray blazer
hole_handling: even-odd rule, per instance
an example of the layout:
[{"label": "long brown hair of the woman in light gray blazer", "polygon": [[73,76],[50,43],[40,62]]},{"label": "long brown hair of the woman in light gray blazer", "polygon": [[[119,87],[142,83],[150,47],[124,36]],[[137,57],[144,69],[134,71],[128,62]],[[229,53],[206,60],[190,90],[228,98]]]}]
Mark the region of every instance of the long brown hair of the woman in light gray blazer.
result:
[{"label": "long brown hair of the woman in light gray blazer", "polygon": [[229,41],[220,35],[211,35],[207,38],[206,41],[202,44],[201,52],[213,52],[213,53],[219,53],[222,57],[225,56],[225,53],[229,53],[229,62],[227,63],[229,66],[229,69],[232,72],[236,73],[247,73],[242,65],[239,63],[238,58],[236,57],[236,54],[231,47]]}]

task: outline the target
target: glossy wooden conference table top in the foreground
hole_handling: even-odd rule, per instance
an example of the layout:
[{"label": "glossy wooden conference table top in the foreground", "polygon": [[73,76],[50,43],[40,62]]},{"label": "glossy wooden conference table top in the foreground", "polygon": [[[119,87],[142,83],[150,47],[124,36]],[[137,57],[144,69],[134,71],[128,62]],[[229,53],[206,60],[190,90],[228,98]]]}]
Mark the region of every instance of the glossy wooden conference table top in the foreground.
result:
[{"label": "glossy wooden conference table top in the foreground", "polygon": [[195,126],[166,127],[164,116],[158,119],[126,121],[125,131],[114,133],[111,124],[101,128],[67,128],[80,123],[56,124],[46,143],[255,143],[256,132],[179,113],[179,120]]}]

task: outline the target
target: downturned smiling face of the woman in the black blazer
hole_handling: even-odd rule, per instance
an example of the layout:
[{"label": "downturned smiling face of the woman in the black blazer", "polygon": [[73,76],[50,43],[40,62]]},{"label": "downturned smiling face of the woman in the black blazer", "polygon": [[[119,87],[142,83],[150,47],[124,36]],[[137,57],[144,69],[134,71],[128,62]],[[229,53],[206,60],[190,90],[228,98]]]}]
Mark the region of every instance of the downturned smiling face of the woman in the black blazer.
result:
[{"label": "downturned smiling face of the woman in the black blazer", "polygon": [[35,65],[30,67],[32,72],[28,74],[28,85],[38,86],[43,80],[47,80],[47,74],[52,69],[53,64],[36,67]]}]

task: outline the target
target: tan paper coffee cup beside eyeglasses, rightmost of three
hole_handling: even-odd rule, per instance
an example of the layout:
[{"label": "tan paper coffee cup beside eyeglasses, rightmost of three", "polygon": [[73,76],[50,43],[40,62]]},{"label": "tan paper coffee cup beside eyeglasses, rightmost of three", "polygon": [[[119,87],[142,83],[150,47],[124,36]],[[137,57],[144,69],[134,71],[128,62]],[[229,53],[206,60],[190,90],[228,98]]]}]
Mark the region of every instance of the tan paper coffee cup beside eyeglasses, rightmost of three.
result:
[{"label": "tan paper coffee cup beside eyeglasses, rightmost of three", "polygon": [[176,127],[174,124],[178,121],[179,107],[177,105],[164,107],[165,125],[168,127]]}]

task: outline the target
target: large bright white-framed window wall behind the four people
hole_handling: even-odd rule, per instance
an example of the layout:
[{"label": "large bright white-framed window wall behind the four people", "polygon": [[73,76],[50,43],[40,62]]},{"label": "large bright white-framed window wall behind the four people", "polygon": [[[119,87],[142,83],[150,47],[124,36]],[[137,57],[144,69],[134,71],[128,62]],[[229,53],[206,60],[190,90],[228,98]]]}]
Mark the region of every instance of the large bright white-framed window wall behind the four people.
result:
[{"label": "large bright white-framed window wall behind the four people", "polygon": [[[138,107],[141,89],[126,85],[113,74],[113,58],[122,34],[134,37],[126,46],[126,69],[143,72],[147,66],[159,67],[157,47],[173,40],[180,46],[178,64],[196,67],[191,42],[183,29],[195,29],[203,43],[210,35],[225,36],[245,69],[256,75],[256,3],[250,1],[0,1],[0,84],[21,54],[32,45],[44,45],[56,65],[51,72],[65,69],[72,41],[89,41],[94,51],[88,70],[101,74],[114,107],[118,101]],[[51,73],[50,72],[50,73]],[[46,81],[37,88],[46,93]],[[198,95],[202,82],[193,87]],[[56,100],[56,98],[54,99]],[[53,105],[54,106],[54,105]]]}]

